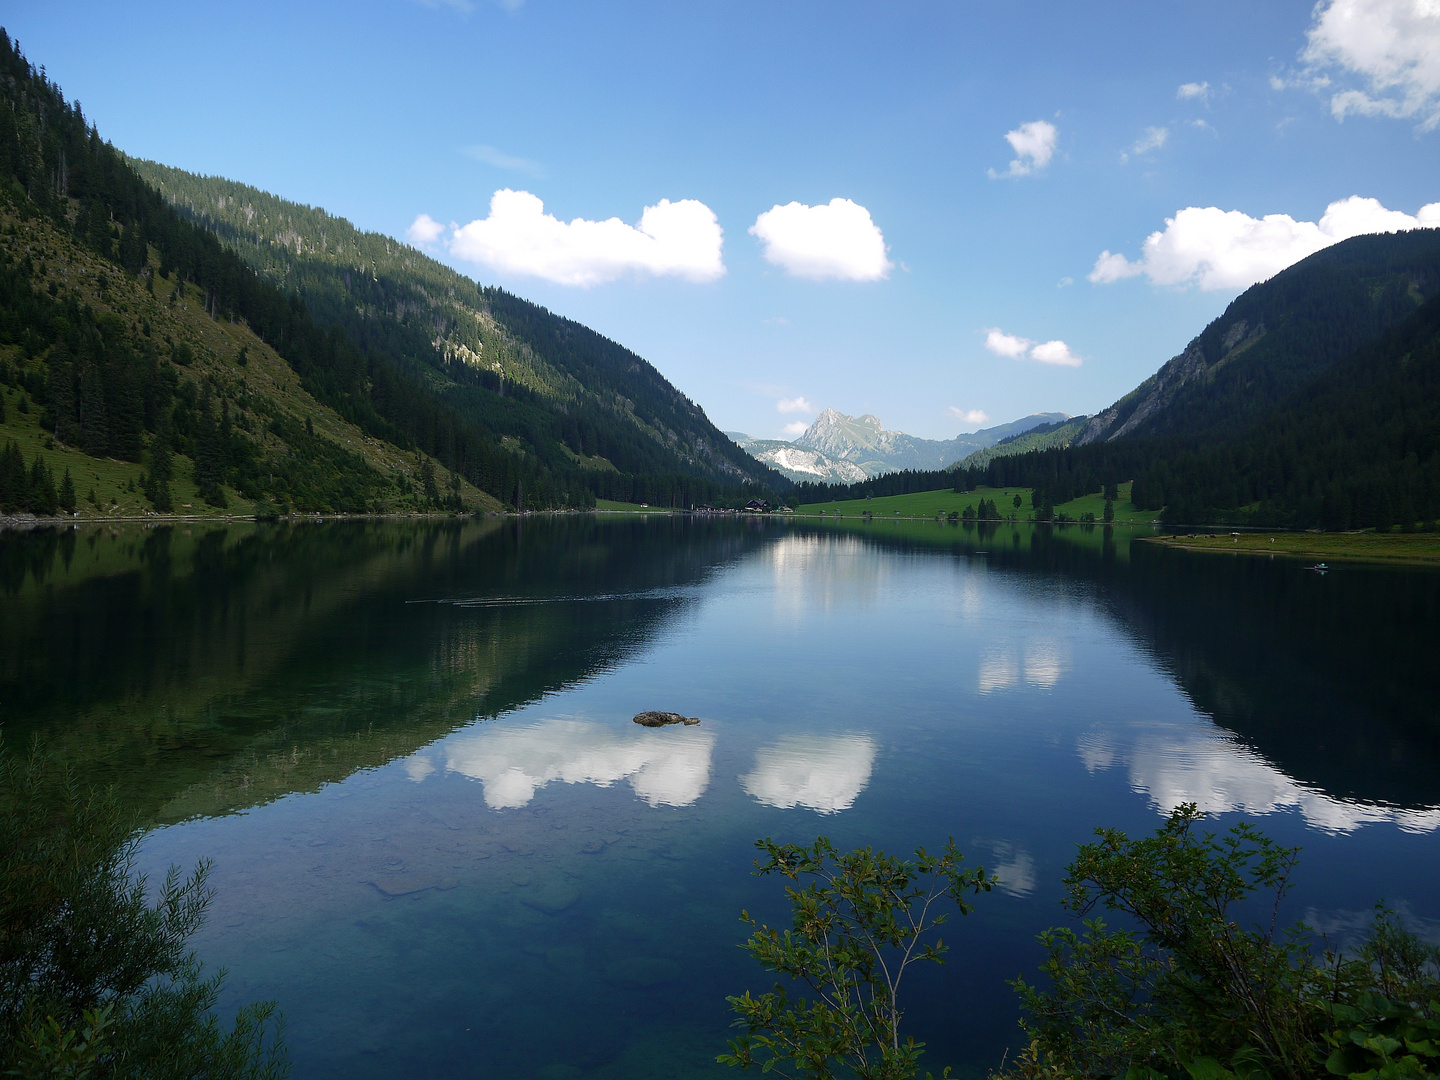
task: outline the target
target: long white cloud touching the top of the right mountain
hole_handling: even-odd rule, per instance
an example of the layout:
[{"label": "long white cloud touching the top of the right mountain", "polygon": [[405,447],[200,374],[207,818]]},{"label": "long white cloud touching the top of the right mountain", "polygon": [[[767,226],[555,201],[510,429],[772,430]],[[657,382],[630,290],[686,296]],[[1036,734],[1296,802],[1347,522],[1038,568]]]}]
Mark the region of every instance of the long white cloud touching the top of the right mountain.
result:
[{"label": "long white cloud touching the top of the right mountain", "polygon": [[1139,259],[1100,252],[1090,281],[1103,285],[1143,274],[1156,285],[1243,289],[1351,236],[1436,226],[1440,226],[1440,203],[1410,216],[1358,194],[1331,203],[1319,222],[1297,222],[1284,213],[1257,219],[1218,206],[1187,206],[1165,219],[1164,230],[1146,238]]}]

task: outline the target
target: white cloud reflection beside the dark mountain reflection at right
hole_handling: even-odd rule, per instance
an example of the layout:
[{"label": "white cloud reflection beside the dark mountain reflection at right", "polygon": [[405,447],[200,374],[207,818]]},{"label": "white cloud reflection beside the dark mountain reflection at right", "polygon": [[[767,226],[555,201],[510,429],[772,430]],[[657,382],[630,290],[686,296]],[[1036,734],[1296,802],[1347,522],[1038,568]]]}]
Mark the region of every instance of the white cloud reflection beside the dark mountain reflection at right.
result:
[{"label": "white cloud reflection beside the dark mountain reflection at right", "polygon": [[1405,832],[1440,828],[1440,808],[1408,809],[1328,795],[1217,730],[1152,721],[1143,729],[1084,734],[1077,750],[1090,772],[1128,769],[1130,788],[1166,812],[1182,802],[1210,814],[1299,811],[1310,828],[1331,834],[1384,822]]}]

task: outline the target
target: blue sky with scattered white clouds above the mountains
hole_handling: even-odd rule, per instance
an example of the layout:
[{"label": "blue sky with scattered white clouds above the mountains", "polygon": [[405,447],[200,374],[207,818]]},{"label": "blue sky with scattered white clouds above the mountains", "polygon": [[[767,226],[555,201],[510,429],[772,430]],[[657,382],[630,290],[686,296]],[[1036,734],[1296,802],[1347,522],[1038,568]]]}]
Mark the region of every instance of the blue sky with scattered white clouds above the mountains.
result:
[{"label": "blue sky with scattered white clouds above the mountains", "polygon": [[121,150],[410,235],[762,436],[1094,412],[1248,281],[1440,225],[1427,0],[0,13]]}]

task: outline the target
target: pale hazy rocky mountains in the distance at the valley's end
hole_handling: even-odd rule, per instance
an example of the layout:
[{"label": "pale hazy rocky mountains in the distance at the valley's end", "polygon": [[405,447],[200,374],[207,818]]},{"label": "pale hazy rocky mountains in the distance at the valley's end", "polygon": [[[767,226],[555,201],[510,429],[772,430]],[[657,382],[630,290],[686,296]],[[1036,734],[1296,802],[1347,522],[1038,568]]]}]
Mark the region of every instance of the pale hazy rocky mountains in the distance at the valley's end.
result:
[{"label": "pale hazy rocky mountains in the distance at the valley's end", "polygon": [[847,416],[825,409],[793,442],[752,439],[726,432],[757,461],[795,481],[852,484],[901,469],[943,469],[975,451],[1022,435],[1041,425],[1068,420],[1063,412],[1032,413],[1011,423],[984,428],[953,439],[922,439],[888,431],[878,416]]}]

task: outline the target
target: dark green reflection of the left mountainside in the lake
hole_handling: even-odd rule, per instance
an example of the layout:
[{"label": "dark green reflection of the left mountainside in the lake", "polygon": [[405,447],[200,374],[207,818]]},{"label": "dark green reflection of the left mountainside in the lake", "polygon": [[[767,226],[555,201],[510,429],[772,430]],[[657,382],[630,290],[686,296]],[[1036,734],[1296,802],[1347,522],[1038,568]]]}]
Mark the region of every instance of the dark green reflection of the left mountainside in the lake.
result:
[{"label": "dark green reflection of the left mountainside in the lake", "polygon": [[3,733],[163,819],[255,805],[622,661],[760,541],[579,516],[6,536]]}]

